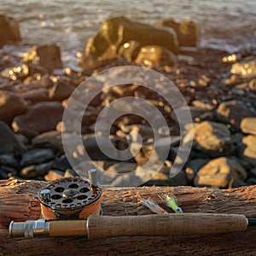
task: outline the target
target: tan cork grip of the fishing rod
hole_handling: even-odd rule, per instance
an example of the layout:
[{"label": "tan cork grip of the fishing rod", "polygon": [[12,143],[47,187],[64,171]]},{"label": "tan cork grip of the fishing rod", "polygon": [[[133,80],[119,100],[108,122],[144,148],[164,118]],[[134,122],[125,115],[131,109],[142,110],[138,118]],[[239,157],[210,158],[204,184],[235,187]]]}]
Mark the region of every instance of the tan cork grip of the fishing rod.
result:
[{"label": "tan cork grip of the fishing rod", "polygon": [[241,214],[92,215],[87,220],[89,240],[114,236],[194,236],[241,230],[247,230],[247,218]]}]

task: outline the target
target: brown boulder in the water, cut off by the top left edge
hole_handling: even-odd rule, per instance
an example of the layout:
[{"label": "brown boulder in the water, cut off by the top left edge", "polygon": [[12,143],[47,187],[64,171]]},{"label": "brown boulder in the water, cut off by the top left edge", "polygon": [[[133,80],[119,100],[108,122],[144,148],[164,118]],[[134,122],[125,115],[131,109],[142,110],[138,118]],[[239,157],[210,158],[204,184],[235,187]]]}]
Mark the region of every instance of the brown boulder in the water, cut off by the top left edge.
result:
[{"label": "brown boulder in the water, cut off by the top left edge", "polygon": [[5,15],[0,15],[0,47],[21,40],[19,23]]}]

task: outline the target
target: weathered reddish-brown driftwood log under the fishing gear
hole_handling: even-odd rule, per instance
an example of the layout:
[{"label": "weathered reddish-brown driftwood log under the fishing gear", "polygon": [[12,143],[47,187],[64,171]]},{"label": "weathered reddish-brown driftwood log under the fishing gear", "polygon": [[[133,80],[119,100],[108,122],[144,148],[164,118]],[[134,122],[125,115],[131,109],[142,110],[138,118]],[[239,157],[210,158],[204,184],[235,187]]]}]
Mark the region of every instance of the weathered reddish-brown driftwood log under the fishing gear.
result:
[{"label": "weathered reddish-brown driftwood log under the fishing gear", "polygon": [[[256,227],[214,236],[134,236],[87,241],[86,237],[9,238],[9,222],[38,219],[39,181],[0,181],[0,255],[256,255]],[[173,193],[183,212],[242,213],[256,218],[256,186],[238,189],[191,187],[106,188],[104,215],[143,215],[151,212],[140,197],[156,200]]]}]

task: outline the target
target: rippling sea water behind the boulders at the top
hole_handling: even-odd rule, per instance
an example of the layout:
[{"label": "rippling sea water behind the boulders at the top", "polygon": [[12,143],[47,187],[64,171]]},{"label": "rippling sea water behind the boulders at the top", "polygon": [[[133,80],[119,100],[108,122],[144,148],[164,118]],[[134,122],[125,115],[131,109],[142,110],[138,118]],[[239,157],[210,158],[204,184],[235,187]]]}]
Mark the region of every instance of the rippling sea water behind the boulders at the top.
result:
[{"label": "rippling sea water behind the boulders at the top", "polygon": [[69,66],[76,66],[79,52],[102,21],[119,15],[148,24],[193,19],[201,28],[201,47],[230,53],[256,47],[255,0],[0,0],[0,13],[20,22],[23,41],[17,54],[32,44],[54,43]]}]

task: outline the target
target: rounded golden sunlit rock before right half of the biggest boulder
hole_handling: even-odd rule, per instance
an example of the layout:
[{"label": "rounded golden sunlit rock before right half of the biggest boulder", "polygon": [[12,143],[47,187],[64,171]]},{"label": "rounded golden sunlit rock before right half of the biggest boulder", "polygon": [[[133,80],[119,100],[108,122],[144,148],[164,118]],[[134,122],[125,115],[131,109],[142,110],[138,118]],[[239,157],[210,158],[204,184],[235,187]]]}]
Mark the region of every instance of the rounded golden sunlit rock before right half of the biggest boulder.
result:
[{"label": "rounded golden sunlit rock before right half of the biggest boulder", "polygon": [[177,64],[177,57],[159,45],[146,45],[138,52],[135,62],[148,67],[173,66]]}]

